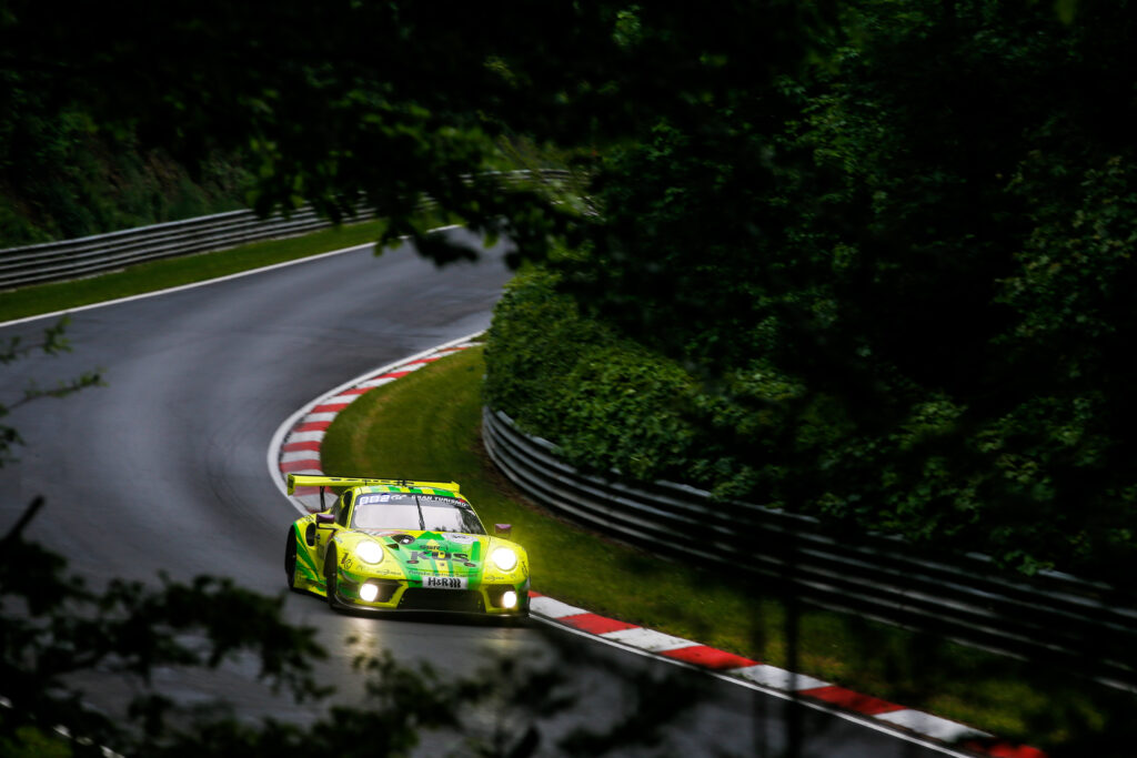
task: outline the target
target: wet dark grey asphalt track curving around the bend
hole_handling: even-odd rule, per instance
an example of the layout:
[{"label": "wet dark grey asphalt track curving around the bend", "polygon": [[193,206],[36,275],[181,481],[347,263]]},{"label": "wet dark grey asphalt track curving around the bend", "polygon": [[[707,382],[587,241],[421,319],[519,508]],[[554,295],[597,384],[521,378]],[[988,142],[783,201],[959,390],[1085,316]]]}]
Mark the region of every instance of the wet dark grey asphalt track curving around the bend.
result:
[{"label": "wet dark grey asphalt track curving around the bend", "polygon": [[[284,534],[296,511],[265,466],[273,433],[300,406],[354,376],[487,327],[509,277],[501,253],[498,248],[479,264],[437,269],[407,249],[376,259],[365,247],[76,313],[68,331],[73,352],[0,367],[6,402],[32,380],[48,386],[101,367],[107,382],[13,413],[9,420],[27,444],[17,451],[19,463],[0,468],[0,532],[42,494],[47,507],[27,534],[64,553],[91,582],[155,581],[165,570],[175,580],[214,574],[281,593]],[[0,339],[33,341],[52,320],[0,326]],[[348,699],[359,680],[350,673],[350,655],[339,651],[355,634],[358,650],[426,660],[443,676],[470,674],[495,655],[557,661],[579,705],[539,724],[546,747],[571,728],[600,727],[639,709],[637,697],[649,689],[698,705],[686,717],[669,718],[662,742],[646,755],[783,755],[791,708],[785,701],[596,642],[564,649],[579,641],[567,633],[357,618],[296,594],[287,598],[287,615],[317,627],[338,651],[326,677]],[[157,678],[183,701],[225,697],[249,716],[310,718],[307,707],[273,697],[255,674],[239,664],[219,673],[160,672]],[[636,677],[669,678],[642,688]],[[88,688],[91,700],[107,707],[124,697],[117,683],[99,676]],[[818,710],[795,713],[804,756],[943,755]],[[475,720],[488,725],[497,716]]]}]

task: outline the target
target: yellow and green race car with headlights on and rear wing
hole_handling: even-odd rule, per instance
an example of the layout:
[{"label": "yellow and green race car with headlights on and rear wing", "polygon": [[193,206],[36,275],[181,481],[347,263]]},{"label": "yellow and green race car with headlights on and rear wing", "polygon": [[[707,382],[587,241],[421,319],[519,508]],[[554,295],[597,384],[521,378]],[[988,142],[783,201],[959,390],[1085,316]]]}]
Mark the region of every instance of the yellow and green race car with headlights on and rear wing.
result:
[{"label": "yellow and green race car with headlights on and rear wing", "polygon": [[330,507],[289,528],[292,590],[337,609],[529,615],[524,548],[508,524],[488,534],[456,482],[289,474],[297,488],[318,488]]}]

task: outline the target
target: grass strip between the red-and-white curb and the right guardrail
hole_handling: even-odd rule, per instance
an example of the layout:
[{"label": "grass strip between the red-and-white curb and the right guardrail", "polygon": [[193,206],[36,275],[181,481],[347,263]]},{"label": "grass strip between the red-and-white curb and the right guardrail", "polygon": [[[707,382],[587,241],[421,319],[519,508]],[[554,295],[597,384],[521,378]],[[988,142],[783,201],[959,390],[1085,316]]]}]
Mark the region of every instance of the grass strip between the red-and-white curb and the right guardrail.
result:
[{"label": "grass strip between the red-and-white curb and the right guardrail", "polygon": [[327,431],[325,472],[455,480],[484,522],[513,524],[542,593],[1003,739],[1061,751],[1099,743],[1114,715],[1132,713],[1131,697],[855,616],[788,608],[761,586],[662,560],[554,517],[515,490],[483,451],[483,373],[481,349],[473,349],[363,395]]}]

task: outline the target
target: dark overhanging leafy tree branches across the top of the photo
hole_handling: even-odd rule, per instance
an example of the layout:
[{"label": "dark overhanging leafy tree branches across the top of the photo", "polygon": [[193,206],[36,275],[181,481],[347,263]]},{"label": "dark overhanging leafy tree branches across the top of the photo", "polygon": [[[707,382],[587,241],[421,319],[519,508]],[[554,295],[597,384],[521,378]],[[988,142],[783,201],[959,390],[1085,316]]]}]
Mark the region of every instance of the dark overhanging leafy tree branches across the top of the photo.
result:
[{"label": "dark overhanging leafy tree branches across the top of the photo", "polygon": [[[629,124],[653,110],[698,118],[713,92],[795,67],[811,45],[797,32],[827,7],[766,0],[707,14],[548,2],[538,14],[458,2],[126,0],[64,17],[7,0],[0,111],[19,113],[34,91],[56,119],[76,114],[100,134],[138,134],[189,165],[239,152],[258,210],[308,200],[340,218],[362,193],[392,219],[388,239],[421,231],[410,216],[429,192],[539,257],[575,214],[540,193],[504,192],[492,177],[462,178],[499,168],[503,138],[591,148],[626,140]],[[418,242],[440,261],[473,255]]]}]

